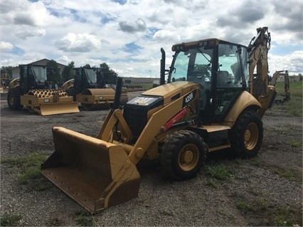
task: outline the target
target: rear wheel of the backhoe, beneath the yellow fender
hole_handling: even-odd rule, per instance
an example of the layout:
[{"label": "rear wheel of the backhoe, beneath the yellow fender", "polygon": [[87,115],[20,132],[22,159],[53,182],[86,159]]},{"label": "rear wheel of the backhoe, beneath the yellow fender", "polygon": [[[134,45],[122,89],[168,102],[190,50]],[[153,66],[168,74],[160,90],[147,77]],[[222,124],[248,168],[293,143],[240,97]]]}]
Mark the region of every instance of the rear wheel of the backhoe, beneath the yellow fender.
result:
[{"label": "rear wheel of the backhoe, beneath the yellow fender", "polygon": [[230,152],[235,157],[250,158],[257,155],[263,139],[263,123],[255,111],[243,112],[231,133]]}]

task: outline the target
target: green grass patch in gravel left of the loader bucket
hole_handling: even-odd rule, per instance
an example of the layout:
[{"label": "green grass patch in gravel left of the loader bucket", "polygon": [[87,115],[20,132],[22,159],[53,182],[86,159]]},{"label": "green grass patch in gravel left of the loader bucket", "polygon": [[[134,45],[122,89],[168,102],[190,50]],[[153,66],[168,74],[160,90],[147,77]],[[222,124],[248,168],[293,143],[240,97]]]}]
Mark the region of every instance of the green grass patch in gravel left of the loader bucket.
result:
[{"label": "green grass patch in gravel left of the loader bucket", "polygon": [[18,176],[19,184],[26,184],[31,179],[41,176],[40,166],[46,161],[46,154],[41,152],[33,152],[23,157],[4,158],[1,164],[8,164],[9,167],[18,167],[21,174]]}]

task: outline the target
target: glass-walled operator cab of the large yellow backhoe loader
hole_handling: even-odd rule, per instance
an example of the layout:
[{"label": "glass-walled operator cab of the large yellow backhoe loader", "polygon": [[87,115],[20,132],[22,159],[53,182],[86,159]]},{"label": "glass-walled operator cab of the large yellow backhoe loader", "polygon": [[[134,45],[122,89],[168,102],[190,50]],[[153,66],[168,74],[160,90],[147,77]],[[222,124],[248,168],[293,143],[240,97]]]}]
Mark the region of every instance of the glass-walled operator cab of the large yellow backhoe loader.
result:
[{"label": "glass-walled operator cab of the large yellow backhoe loader", "polygon": [[240,93],[248,90],[247,48],[213,38],[176,44],[172,51],[168,83],[200,84],[201,120],[222,121]]}]

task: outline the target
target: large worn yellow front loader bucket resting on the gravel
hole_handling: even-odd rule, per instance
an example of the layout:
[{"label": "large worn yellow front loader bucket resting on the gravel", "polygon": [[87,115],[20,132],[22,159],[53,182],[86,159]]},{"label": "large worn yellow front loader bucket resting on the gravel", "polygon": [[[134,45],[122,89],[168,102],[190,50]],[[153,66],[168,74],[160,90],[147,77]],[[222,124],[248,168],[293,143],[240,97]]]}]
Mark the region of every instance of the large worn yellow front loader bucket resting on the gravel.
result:
[{"label": "large worn yellow front loader bucket resting on the gravel", "polygon": [[53,139],[42,174],[88,211],[138,196],[139,171],[121,146],[63,127],[53,127]]}]

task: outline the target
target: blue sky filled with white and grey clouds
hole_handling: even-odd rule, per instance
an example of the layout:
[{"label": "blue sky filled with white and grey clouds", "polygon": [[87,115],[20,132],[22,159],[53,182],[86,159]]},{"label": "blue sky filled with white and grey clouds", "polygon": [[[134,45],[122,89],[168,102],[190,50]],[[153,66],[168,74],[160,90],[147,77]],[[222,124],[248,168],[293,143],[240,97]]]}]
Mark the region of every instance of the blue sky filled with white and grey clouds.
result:
[{"label": "blue sky filled with white and grey clouds", "polygon": [[267,26],[275,70],[303,73],[300,0],[1,0],[0,66],[43,58],[107,63],[122,77],[157,77],[174,43],[220,38],[248,46]]}]

